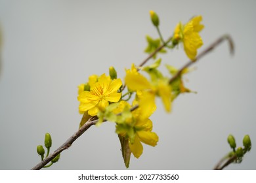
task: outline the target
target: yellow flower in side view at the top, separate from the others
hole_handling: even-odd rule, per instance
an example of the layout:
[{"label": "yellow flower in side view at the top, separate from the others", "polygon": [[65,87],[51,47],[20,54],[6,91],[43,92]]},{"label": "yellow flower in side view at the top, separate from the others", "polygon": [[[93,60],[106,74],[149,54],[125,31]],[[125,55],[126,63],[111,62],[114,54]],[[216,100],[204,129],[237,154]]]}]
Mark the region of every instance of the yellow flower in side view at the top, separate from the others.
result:
[{"label": "yellow flower in side view at the top, separate from the others", "polygon": [[202,16],[195,16],[187,24],[177,24],[174,31],[174,39],[181,40],[184,45],[184,51],[188,58],[196,59],[197,50],[203,45],[199,32],[202,31],[203,25],[200,24]]}]

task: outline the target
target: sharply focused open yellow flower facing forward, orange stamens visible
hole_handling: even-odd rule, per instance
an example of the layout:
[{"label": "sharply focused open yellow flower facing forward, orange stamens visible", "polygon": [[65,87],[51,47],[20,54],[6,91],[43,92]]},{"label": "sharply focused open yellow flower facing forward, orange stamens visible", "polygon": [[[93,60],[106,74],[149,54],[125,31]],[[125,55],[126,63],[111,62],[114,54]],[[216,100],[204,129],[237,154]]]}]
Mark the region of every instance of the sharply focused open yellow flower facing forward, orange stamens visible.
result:
[{"label": "sharply focused open yellow flower facing forward, orange stamens visible", "polygon": [[91,90],[79,93],[77,99],[80,101],[79,110],[87,111],[90,116],[98,113],[98,108],[105,108],[109,102],[117,102],[121,97],[121,93],[117,90],[121,87],[120,79],[111,80],[110,76],[101,75],[95,82],[92,79]]}]

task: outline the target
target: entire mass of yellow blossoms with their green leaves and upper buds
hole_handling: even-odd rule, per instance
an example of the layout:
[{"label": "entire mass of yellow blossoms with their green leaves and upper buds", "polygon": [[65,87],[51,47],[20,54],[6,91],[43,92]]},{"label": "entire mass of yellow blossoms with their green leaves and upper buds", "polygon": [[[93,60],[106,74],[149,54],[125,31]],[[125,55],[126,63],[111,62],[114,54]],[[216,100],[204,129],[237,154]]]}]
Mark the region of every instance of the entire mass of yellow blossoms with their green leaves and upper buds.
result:
[{"label": "entire mass of yellow blossoms with their green leaves and upper buds", "polygon": [[[158,27],[160,22],[156,13],[150,11],[150,16],[153,24]],[[114,67],[110,67],[109,75],[92,75],[85,84],[79,85],[77,99],[79,112],[83,114],[80,126],[94,116],[98,119],[96,125],[105,121],[116,123],[116,133],[127,167],[131,154],[135,158],[141,156],[142,143],[150,146],[156,146],[158,143],[158,135],[152,131],[153,122],[150,120],[156,110],[156,98],[159,97],[165,110],[170,112],[173,100],[180,93],[190,92],[182,80],[182,75],[188,73],[188,69],[184,69],[181,75],[171,80],[178,73],[178,69],[165,65],[169,76],[163,76],[159,69],[161,59],[156,59],[156,50],[161,44],[164,44],[165,48],[173,49],[182,43],[186,55],[193,61],[196,59],[198,48],[203,44],[199,35],[203,29],[201,21],[202,16],[196,16],[187,24],[180,22],[168,42],[154,40],[148,36],[145,52],[154,53],[154,63],[140,67],[132,64],[131,69],[126,69],[123,82],[117,78]],[[163,48],[159,52],[165,53],[166,50]]]}]

